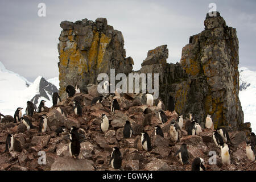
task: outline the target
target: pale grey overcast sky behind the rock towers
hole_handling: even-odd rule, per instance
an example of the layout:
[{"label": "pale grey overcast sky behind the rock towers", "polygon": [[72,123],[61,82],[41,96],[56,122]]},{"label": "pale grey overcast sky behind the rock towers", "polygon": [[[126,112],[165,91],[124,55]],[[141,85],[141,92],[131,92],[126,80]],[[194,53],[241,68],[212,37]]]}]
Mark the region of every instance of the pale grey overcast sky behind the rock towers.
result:
[{"label": "pale grey overcast sky behind the rock towers", "polygon": [[[38,16],[38,4],[46,4],[46,17]],[[125,40],[126,57],[134,59],[134,70],[141,68],[147,51],[167,44],[168,63],[180,61],[189,36],[204,30],[210,8],[226,24],[237,28],[240,67],[256,71],[256,1],[0,1],[0,61],[29,81],[40,75],[59,76],[57,43],[60,22],[84,18],[108,19]]]}]

